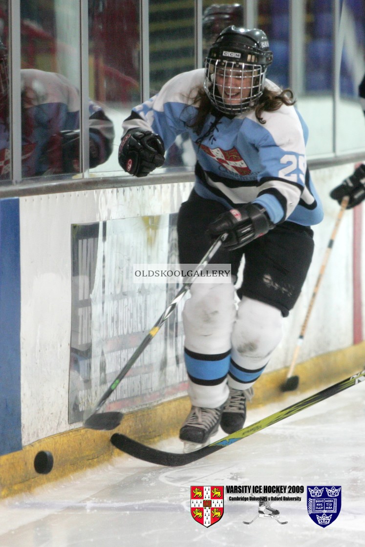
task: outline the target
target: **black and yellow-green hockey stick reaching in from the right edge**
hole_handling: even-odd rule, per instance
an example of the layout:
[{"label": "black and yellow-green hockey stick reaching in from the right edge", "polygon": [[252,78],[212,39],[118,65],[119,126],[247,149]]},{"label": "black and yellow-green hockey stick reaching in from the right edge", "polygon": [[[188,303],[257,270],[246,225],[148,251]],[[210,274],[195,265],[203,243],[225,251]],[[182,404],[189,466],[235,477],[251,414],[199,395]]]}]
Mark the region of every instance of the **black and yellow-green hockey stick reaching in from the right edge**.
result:
[{"label": "black and yellow-green hockey stick reaching in from the right edge", "polygon": [[208,456],[213,452],[217,452],[218,450],[221,450],[225,446],[229,446],[236,441],[245,439],[246,437],[249,437],[249,435],[265,429],[265,427],[269,427],[274,423],[280,422],[288,416],[297,414],[297,412],[307,409],[310,406],[315,405],[316,403],[320,403],[320,401],[323,401],[328,397],[332,397],[332,395],[340,393],[348,387],[355,386],[357,383],[364,380],[365,370],[362,370],[360,373],[356,373],[349,378],[346,378],[345,380],[341,380],[340,382],[335,383],[333,386],[329,386],[326,389],[315,393],[314,395],[310,395],[310,397],[298,401],[298,403],[294,403],[293,405],[290,405],[283,410],[279,410],[278,412],[275,412],[274,414],[271,414],[270,416],[263,418],[256,423],[253,423],[251,426],[247,426],[244,429],[240,429],[235,433],[227,435],[227,437],[223,437],[223,439],[220,439],[215,443],[196,450],[195,452],[188,452],[184,454],[164,452],[154,449],[150,446],[137,443],[137,441],[134,441],[129,437],[126,437],[125,435],[121,435],[119,433],[114,433],[114,435],[112,435],[111,442],[115,447],[117,447],[117,449],[129,454],[130,456],[143,459],[146,462],[156,463],[158,465],[167,465],[170,467],[186,465],[188,463],[195,462],[200,458],[204,458],[205,456]]}]

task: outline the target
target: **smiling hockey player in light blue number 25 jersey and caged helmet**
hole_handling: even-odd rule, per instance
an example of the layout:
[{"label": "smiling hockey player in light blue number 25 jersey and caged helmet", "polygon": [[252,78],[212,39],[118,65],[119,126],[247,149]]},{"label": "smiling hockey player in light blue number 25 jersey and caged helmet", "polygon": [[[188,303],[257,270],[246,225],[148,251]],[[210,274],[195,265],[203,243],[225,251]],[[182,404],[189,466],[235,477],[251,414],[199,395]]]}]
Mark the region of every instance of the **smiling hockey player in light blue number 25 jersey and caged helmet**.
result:
[{"label": "smiling hockey player in light blue number 25 jersey and caged helmet", "polygon": [[[204,445],[221,424],[243,427],[245,393],[281,339],[313,251],[320,201],[306,167],[306,126],[292,94],[265,80],[273,60],[258,29],[230,26],[211,46],[205,69],[177,75],[124,121],[119,162],[143,177],[188,131],[197,155],[195,186],[178,214],[181,264],[197,264],[212,239],[228,234],[213,263],[243,282],[193,284],[183,311],[192,410],[179,437]],[[259,237],[262,236],[262,237]],[[247,244],[247,240],[250,242]]]}]

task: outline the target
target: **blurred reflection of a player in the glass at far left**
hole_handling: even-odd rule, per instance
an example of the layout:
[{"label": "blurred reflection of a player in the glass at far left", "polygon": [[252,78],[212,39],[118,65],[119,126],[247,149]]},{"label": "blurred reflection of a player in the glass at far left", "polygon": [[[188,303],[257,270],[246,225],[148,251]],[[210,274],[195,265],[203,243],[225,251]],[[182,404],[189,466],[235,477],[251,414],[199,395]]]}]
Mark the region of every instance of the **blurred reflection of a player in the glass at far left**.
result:
[{"label": "blurred reflection of a player in the glass at far left", "polygon": [[[0,179],[8,179],[9,85],[7,50],[0,42]],[[21,71],[22,176],[78,173],[78,90],[61,74],[36,69]],[[90,167],[112,153],[114,127],[102,108],[89,101]]]}]

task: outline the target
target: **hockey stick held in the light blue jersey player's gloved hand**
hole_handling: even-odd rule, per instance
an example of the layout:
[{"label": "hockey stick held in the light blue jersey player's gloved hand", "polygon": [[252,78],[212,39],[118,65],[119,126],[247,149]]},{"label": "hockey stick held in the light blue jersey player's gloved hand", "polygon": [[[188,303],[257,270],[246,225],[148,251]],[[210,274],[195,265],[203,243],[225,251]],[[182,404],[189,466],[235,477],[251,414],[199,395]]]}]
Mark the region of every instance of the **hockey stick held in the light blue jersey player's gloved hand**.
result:
[{"label": "hockey stick held in the light blue jersey player's gloved hand", "polygon": [[123,369],[121,369],[118,376],[114,379],[113,383],[108,387],[107,391],[102,395],[100,400],[95,405],[94,409],[92,409],[89,417],[84,421],[84,426],[86,428],[111,430],[119,426],[123,418],[122,412],[103,412],[102,414],[97,414],[97,412],[99,412],[103,404],[105,404],[106,400],[113,393],[114,389],[117,388],[120,381],[128,373],[129,369],[131,368],[132,365],[134,365],[138,357],[140,357],[141,353],[148,346],[149,342],[158,333],[162,325],[165,323],[166,319],[170,317],[173,310],[175,310],[178,302],[183,298],[184,294],[189,290],[189,288],[194,283],[197,277],[195,274],[205,269],[206,265],[213,258],[213,255],[216,254],[219,247],[221,247],[222,245],[222,241],[224,241],[226,237],[227,237],[226,234],[223,234],[221,237],[218,237],[218,239],[211,245],[211,247],[208,249],[204,257],[201,259],[198,266],[196,266],[192,274],[192,277],[190,277],[191,281],[184,281],[181,289],[178,291],[175,298],[171,301],[169,306],[167,306],[166,310],[159,317],[158,321],[153,325],[152,329],[150,329],[147,336],[144,337],[141,344],[136,348],[134,353],[132,353],[131,357],[128,359]]}]

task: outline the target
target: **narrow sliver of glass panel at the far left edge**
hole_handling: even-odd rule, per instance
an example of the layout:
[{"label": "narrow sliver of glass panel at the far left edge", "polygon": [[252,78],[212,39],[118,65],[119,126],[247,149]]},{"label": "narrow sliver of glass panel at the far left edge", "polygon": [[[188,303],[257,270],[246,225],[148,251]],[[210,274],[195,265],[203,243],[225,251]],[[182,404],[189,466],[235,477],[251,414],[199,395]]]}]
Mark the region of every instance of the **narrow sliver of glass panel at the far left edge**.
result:
[{"label": "narrow sliver of glass panel at the far left edge", "polygon": [[0,2],[0,183],[11,179],[9,143],[8,2]]}]

